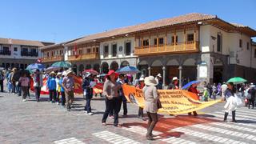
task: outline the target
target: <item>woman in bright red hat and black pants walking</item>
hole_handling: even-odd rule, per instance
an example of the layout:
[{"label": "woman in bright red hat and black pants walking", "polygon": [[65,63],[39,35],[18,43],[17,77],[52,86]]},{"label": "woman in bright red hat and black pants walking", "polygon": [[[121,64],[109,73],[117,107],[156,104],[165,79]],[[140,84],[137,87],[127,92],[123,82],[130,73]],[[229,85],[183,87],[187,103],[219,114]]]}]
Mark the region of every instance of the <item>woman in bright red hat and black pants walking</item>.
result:
[{"label": "woman in bright red hat and black pants walking", "polygon": [[114,108],[114,126],[120,127],[118,124],[118,82],[116,82],[118,74],[114,70],[110,70],[106,74],[106,82],[103,86],[103,95],[106,96],[106,110],[103,114],[102,125],[106,126],[106,118],[108,117],[111,108]]}]

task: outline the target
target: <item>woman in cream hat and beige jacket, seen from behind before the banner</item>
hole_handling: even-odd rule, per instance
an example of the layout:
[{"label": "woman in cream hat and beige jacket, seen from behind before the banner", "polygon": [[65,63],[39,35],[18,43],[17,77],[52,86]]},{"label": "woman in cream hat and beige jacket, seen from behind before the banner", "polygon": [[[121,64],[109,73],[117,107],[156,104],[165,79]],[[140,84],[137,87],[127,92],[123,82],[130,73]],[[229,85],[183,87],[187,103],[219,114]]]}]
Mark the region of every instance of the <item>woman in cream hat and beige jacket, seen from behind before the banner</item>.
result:
[{"label": "woman in cream hat and beige jacket, seen from behind before the banner", "polygon": [[158,122],[157,112],[159,95],[156,88],[158,82],[154,79],[153,76],[149,76],[145,78],[145,84],[146,86],[143,88],[143,94],[145,98],[144,109],[146,110],[146,114],[149,118],[146,138],[149,140],[154,140],[152,131]]}]

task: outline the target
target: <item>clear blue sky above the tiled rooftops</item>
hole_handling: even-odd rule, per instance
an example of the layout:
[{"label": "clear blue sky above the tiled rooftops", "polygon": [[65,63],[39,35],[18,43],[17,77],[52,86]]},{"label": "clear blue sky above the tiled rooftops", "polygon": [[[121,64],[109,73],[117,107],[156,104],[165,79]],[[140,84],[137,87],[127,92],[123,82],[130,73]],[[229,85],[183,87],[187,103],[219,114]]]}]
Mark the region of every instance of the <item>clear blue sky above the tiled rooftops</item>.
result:
[{"label": "clear blue sky above the tiled rooftops", "polygon": [[1,38],[65,42],[193,12],[217,14],[256,30],[254,0],[1,0],[0,7]]}]

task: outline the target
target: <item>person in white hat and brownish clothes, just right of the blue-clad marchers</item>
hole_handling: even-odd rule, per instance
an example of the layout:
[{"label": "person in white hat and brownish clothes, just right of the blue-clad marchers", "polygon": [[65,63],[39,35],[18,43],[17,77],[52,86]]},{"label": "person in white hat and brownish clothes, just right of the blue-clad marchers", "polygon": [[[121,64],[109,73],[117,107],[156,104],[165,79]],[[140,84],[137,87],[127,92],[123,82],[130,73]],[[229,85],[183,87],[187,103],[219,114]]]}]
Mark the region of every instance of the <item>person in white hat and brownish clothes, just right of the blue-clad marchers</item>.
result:
[{"label": "person in white hat and brownish clothes, just right of the blue-clad marchers", "polygon": [[72,70],[66,70],[66,77],[62,80],[62,86],[66,96],[66,110],[70,111],[72,102],[74,101],[74,78]]}]

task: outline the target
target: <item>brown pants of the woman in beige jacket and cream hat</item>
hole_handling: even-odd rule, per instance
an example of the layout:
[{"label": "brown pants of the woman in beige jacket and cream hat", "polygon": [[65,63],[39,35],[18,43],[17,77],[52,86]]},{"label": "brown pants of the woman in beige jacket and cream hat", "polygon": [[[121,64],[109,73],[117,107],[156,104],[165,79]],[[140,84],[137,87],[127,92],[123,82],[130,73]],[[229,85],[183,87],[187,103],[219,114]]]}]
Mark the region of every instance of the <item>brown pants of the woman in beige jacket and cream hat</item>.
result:
[{"label": "brown pants of the woman in beige jacket and cream hat", "polygon": [[146,112],[146,114],[149,117],[149,121],[147,122],[146,137],[149,137],[149,136],[152,136],[152,131],[154,129],[154,126],[158,122],[158,114],[157,113],[150,113],[150,112]]}]

